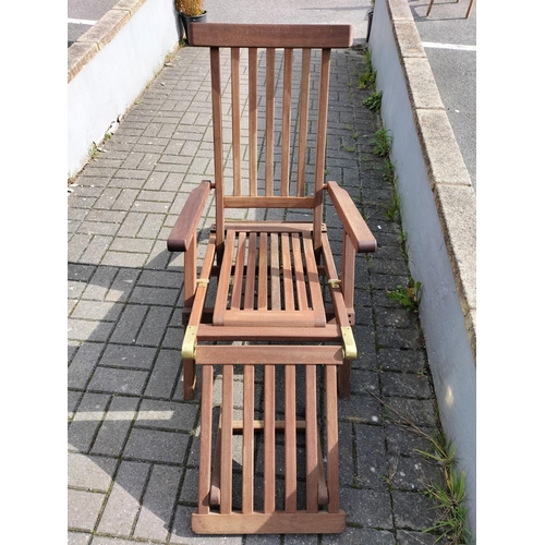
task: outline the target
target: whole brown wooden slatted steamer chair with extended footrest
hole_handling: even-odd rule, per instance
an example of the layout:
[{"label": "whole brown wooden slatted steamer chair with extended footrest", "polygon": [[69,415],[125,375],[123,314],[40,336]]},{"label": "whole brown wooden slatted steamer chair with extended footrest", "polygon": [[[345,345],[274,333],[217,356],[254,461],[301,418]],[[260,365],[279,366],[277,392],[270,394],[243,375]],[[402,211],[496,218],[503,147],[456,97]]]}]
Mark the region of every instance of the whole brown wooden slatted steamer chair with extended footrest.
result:
[{"label": "whole brown wooden slatted steamer chair with extended footrest", "polygon": [[[352,29],[204,23],[190,25],[189,33],[194,46],[210,48],[215,159],[214,182],[203,181],[191,193],[168,240],[169,250],[185,252],[185,399],[193,398],[195,370],[202,366],[192,528],[208,534],[339,533],[346,513],[339,505],[337,400],[350,395],[350,366],[356,358],[351,329],[355,254],[376,247],[349,194],[336,182],[324,183],[323,174],[331,49],[349,47]],[[314,61],[313,48],[318,51]],[[226,75],[228,117],[222,114]],[[247,100],[241,92],[246,86]],[[226,123],[231,125],[228,143]],[[210,190],[216,223],[197,274],[196,228]],[[340,276],[323,223],[326,193],[343,226]],[[255,217],[270,209],[302,210],[308,220],[234,220],[231,209],[253,210]],[[318,366],[324,370],[325,414],[318,412]],[[257,378],[262,370],[263,379]],[[217,376],[221,404],[215,428]],[[242,419],[234,401],[240,384]],[[318,420],[325,422],[323,438]],[[304,439],[303,462],[298,460],[298,433]],[[240,480],[233,471],[239,435]]]}]

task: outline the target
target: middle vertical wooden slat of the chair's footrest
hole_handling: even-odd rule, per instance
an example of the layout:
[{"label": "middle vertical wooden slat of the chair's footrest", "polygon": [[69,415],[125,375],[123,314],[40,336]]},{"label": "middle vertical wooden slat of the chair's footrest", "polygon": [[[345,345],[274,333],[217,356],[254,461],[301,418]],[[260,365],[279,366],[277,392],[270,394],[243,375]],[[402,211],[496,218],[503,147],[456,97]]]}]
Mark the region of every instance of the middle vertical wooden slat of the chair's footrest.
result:
[{"label": "middle vertical wooden slat of the chair's footrest", "polygon": [[275,511],[275,366],[265,365],[264,376],[264,486],[263,510]]}]

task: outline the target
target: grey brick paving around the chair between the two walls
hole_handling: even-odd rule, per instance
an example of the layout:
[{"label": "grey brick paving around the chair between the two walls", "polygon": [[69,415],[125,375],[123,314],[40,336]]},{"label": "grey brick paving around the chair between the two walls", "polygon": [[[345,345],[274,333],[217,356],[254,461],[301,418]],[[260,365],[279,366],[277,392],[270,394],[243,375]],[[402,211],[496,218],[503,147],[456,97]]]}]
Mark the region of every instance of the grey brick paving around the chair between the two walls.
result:
[{"label": "grey brick paving around the chair between the two walls", "polygon": [[[362,107],[361,50],[332,56],[327,179],[362,207],[378,251],[360,256],[352,397],[339,401],[340,536],[192,533],[198,401],[182,399],[183,259],[166,240],[189,192],[213,178],[208,52],[184,48],[159,74],[69,196],[69,543],[432,544],[437,517],[421,491],[439,468],[392,409],[436,433],[433,386],[417,315],[386,296],[407,284],[392,186]],[[211,204],[211,203],[210,203]],[[213,221],[210,208],[201,227]],[[338,220],[326,209],[330,238]],[[202,245],[202,244],[201,244]],[[336,244],[337,252],[340,243]],[[376,397],[375,397],[376,396]]]}]

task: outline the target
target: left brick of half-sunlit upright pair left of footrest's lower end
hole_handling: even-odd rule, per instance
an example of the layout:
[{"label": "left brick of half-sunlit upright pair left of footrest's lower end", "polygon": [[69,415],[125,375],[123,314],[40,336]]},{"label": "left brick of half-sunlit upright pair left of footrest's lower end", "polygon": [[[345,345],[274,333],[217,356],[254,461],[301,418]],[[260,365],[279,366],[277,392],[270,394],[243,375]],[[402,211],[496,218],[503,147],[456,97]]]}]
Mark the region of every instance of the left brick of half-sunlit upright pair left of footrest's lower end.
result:
[{"label": "left brick of half-sunlit upright pair left of footrest's lower end", "polygon": [[99,532],[131,535],[149,470],[148,463],[121,462],[98,524]]}]

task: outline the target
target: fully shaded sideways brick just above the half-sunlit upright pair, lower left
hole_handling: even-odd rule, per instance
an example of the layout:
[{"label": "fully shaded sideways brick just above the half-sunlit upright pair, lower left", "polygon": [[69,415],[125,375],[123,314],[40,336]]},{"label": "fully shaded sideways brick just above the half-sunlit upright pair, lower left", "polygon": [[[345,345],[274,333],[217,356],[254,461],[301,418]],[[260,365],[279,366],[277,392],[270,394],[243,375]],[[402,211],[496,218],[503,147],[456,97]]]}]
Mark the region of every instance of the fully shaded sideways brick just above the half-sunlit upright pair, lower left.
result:
[{"label": "fully shaded sideways brick just above the half-sunlit upright pair, lower left", "polygon": [[133,427],[124,449],[126,458],[181,464],[189,435]]}]

